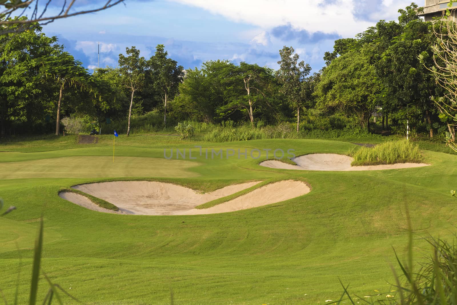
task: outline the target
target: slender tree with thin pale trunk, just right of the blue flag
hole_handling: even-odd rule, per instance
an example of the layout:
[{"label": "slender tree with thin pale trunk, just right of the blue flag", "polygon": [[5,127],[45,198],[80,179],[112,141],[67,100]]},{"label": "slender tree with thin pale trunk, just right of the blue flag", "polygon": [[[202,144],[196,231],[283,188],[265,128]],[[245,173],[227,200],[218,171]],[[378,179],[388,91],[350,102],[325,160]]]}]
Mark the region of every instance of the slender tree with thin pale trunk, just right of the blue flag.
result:
[{"label": "slender tree with thin pale trunk, just right of the blue flag", "polygon": [[119,54],[119,72],[122,85],[131,93],[130,107],[128,110],[127,136],[130,134],[130,118],[132,117],[132,104],[135,91],[141,90],[144,86],[144,73],[146,60],[140,57],[140,50],[135,47],[126,48],[127,57]]}]

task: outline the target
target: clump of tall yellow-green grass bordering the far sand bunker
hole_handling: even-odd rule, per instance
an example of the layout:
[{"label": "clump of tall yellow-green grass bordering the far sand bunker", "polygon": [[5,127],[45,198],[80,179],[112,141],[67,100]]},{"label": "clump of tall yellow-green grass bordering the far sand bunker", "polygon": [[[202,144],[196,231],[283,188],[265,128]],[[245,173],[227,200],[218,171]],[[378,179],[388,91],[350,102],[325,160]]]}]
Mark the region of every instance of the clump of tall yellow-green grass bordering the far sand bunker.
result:
[{"label": "clump of tall yellow-green grass bordering the far sand bunker", "polygon": [[348,155],[354,158],[352,166],[420,163],[423,159],[419,146],[406,139],[387,141],[373,148],[352,149],[349,150]]}]

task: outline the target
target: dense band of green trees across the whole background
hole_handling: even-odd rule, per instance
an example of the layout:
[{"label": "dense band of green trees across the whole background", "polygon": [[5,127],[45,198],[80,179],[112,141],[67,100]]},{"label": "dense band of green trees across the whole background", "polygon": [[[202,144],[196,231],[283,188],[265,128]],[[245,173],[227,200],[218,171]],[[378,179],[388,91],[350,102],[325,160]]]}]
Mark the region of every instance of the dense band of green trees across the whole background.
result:
[{"label": "dense band of green trees across the whole background", "polygon": [[[119,54],[117,67],[90,74],[38,25],[14,36],[0,35],[5,51],[0,133],[49,133],[53,125],[56,134],[64,128],[69,132],[74,128],[61,126],[60,118],[71,116],[64,122],[87,124],[90,118],[103,133],[173,131],[183,121],[218,124],[216,130],[227,128],[223,122],[229,121],[246,130],[279,130],[296,122],[297,137],[323,132],[406,135],[407,124],[413,137],[441,139],[446,131],[453,136],[452,116],[434,102],[446,90],[427,70],[436,64],[437,26],[420,19],[421,11],[412,3],[399,10],[398,21],[382,20],[356,37],[336,40],[334,50],[324,54],[326,66],[314,73],[287,46],[279,51],[277,71],[228,60],[183,70],[159,44],[150,59],[133,46]],[[283,134],[295,137],[291,132]],[[231,131],[219,132],[217,138],[227,133]],[[255,133],[222,138],[257,138]]]}]

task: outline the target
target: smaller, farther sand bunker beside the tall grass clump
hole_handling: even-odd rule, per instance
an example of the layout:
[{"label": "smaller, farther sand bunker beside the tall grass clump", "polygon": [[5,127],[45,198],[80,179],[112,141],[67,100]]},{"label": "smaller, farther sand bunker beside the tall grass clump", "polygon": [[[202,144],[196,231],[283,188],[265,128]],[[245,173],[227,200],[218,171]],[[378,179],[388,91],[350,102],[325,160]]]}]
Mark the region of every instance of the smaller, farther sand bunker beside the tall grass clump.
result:
[{"label": "smaller, farther sand bunker beside the tall grass clump", "polygon": [[292,158],[291,160],[297,163],[297,165],[287,164],[277,160],[267,160],[260,162],[260,166],[303,171],[376,171],[429,165],[425,163],[396,163],[386,165],[351,166],[351,162],[353,161],[351,157],[337,154],[301,155],[299,157]]}]

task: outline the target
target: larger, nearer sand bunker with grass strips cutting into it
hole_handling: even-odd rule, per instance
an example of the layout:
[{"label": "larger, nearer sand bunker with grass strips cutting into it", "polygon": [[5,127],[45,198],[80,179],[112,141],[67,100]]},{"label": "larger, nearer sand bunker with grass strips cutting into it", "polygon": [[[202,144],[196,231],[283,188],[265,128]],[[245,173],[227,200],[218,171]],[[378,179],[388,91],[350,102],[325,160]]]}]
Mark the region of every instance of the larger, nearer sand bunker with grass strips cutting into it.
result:
[{"label": "larger, nearer sand bunker with grass strips cutting into it", "polygon": [[63,192],[59,196],[87,209],[117,214],[139,215],[196,215],[250,209],[276,203],[309,193],[309,187],[300,181],[281,181],[257,188],[225,203],[208,209],[194,209],[209,201],[223,198],[252,187],[260,182],[246,182],[223,187],[211,193],[197,193],[191,188],[165,182],[117,181],[76,185],[73,188],[116,205],[118,212],[92,203],[76,193]]}]

